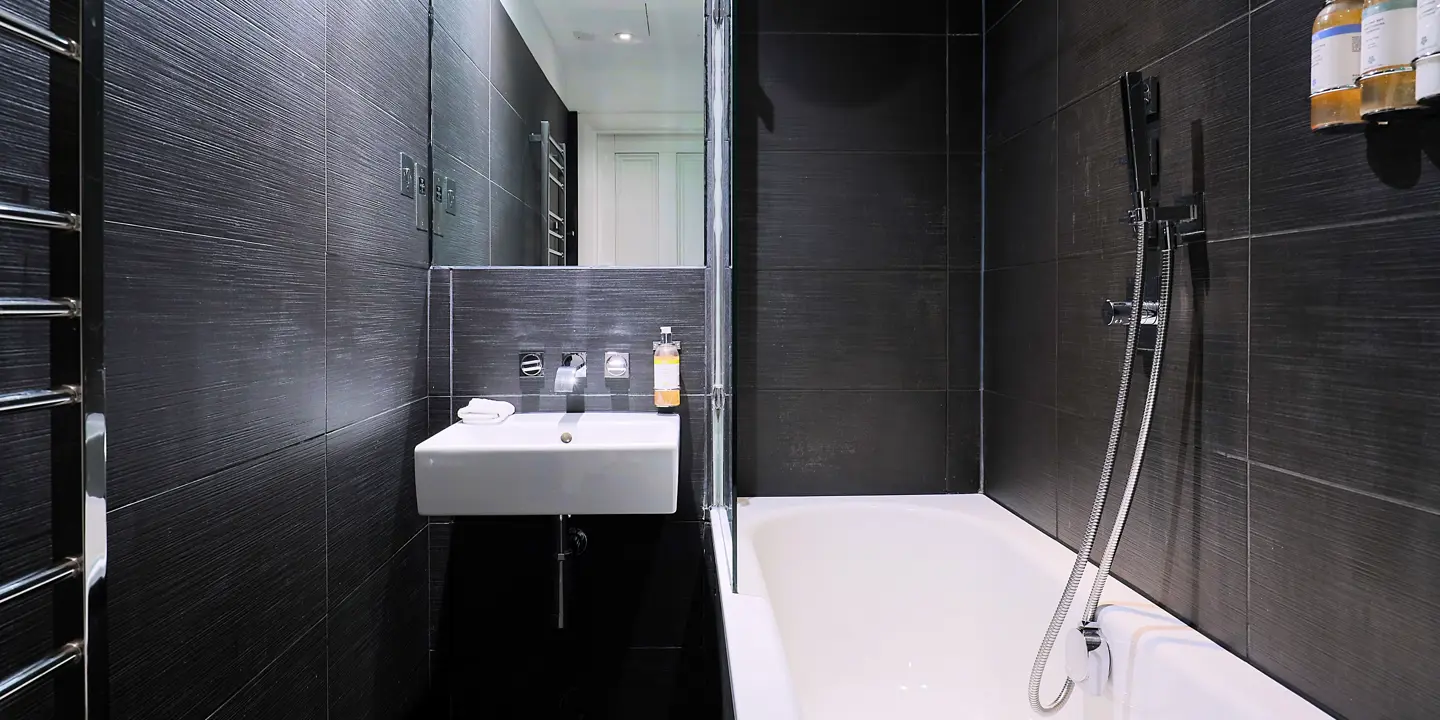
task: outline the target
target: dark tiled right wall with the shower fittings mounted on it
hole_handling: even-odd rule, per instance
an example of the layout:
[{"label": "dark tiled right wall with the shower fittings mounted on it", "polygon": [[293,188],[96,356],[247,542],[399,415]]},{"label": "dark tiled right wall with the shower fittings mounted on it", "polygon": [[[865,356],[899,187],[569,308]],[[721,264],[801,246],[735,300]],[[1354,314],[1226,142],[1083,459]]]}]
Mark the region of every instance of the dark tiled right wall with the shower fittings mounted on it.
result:
[{"label": "dark tiled right wall with the shower fittings mounted on it", "polygon": [[[1338,717],[1440,716],[1440,124],[1310,134],[1310,1],[988,7],[986,492],[1079,544],[1123,350],[1094,305],[1135,262],[1113,79],[1145,69],[1162,199],[1201,132],[1210,242],[1176,256],[1116,575]],[[1011,89],[1037,78],[1053,107]]]}]

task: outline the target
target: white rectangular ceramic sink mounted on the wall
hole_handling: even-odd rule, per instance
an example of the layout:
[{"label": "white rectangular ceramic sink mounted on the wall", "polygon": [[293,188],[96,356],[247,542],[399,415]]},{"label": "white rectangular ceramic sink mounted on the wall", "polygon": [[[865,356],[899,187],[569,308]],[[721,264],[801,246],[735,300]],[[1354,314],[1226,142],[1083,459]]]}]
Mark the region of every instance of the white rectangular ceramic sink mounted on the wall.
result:
[{"label": "white rectangular ceramic sink mounted on the wall", "polygon": [[678,490],[677,415],[517,413],[415,448],[422,516],[668,514]]}]

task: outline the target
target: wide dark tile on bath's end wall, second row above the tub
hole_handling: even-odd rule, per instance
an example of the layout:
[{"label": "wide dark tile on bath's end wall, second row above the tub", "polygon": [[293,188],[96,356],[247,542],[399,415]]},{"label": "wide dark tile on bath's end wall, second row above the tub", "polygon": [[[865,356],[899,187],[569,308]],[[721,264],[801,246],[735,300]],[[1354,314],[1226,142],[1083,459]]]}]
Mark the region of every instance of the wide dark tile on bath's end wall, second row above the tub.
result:
[{"label": "wide dark tile on bath's end wall, second row above the tub", "polygon": [[769,390],[939,390],[946,272],[765,271],[736,282],[737,383]]}]

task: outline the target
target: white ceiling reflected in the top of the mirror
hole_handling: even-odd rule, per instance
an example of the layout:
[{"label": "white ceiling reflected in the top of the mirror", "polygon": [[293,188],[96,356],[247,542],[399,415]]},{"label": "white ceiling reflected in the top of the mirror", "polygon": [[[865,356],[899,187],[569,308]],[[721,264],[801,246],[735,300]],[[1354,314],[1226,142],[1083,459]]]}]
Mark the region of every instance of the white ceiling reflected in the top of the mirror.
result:
[{"label": "white ceiling reflected in the top of the mirror", "polygon": [[[576,112],[701,112],[704,0],[523,0],[560,60]],[[615,42],[626,32],[634,42]]]}]

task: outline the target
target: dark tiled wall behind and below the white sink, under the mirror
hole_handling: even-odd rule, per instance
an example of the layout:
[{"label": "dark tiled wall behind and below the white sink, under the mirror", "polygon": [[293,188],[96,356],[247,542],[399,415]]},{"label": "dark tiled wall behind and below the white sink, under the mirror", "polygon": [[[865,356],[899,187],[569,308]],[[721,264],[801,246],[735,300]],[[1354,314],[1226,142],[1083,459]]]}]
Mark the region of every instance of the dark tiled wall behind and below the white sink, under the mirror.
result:
[{"label": "dark tiled wall behind and below the white sink, under the mirror", "polygon": [[[655,412],[651,344],[661,325],[681,344],[685,392],[677,513],[570,520],[589,550],[566,563],[563,632],[554,629],[554,518],[431,526],[431,647],[435,698],[445,704],[435,717],[717,717],[719,645],[701,546],[704,287],[704,268],[431,271],[432,433],[471,397],[508,400],[520,412]],[[544,379],[518,377],[526,350],[544,351]],[[629,353],[629,380],[600,376],[606,350]],[[563,351],[585,351],[595,364],[575,396],[549,384]]]}]

